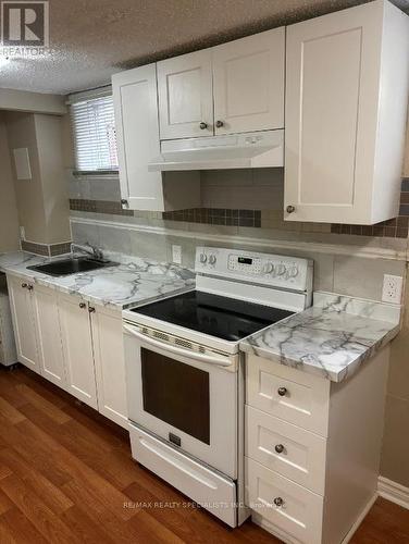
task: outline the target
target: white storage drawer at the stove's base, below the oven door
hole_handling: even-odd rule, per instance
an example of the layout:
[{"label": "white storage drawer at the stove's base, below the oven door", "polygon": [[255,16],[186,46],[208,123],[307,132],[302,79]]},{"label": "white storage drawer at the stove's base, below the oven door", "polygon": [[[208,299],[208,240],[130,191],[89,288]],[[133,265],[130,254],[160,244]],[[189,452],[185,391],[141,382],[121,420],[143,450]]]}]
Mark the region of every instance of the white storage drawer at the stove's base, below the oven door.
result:
[{"label": "white storage drawer at the stove's base, below the oven door", "polygon": [[236,484],[129,423],[134,459],[231,527],[236,527]]}]

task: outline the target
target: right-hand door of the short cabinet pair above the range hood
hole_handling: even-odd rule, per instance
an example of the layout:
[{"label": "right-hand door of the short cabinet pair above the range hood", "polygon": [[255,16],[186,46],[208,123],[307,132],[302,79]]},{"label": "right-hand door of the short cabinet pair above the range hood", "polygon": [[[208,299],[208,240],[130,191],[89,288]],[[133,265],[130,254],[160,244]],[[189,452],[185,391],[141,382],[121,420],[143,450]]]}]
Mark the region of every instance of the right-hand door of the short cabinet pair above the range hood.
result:
[{"label": "right-hand door of the short cabinet pair above the range hood", "polygon": [[213,48],[215,134],[284,127],[284,27]]}]

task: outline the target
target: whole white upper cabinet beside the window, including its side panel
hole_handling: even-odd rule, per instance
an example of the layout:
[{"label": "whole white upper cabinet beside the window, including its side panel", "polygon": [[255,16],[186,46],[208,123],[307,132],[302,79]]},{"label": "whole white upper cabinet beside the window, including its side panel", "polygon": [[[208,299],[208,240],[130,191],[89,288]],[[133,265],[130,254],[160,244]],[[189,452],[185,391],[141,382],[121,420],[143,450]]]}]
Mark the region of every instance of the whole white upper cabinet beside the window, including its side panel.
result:
[{"label": "whole white upper cabinet beside the window, including its side panel", "polygon": [[120,162],[122,205],[125,209],[172,211],[200,206],[198,172],[149,172],[160,156],[156,64],[112,77]]}]

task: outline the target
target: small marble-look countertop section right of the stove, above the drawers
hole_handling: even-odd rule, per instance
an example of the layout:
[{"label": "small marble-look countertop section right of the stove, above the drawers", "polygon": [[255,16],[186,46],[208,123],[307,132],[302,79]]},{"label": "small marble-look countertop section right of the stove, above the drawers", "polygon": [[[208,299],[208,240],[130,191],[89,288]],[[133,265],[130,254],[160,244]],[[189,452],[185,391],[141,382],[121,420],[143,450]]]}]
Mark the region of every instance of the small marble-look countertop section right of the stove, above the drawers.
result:
[{"label": "small marble-look countertop section right of the stove, above the drawers", "polygon": [[240,343],[243,351],[340,382],[399,332],[400,307],[314,294],[311,308]]}]

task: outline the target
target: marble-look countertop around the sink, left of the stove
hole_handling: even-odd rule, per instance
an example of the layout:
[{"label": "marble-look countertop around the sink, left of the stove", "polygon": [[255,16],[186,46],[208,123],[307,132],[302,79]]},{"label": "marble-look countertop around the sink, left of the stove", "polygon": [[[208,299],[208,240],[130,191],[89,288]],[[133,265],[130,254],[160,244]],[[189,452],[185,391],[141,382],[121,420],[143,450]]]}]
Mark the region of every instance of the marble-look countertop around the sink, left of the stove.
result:
[{"label": "marble-look countertop around the sink, left of the stove", "polygon": [[53,277],[27,270],[27,267],[50,262],[50,259],[16,251],[0,255],[0,271],[25,276],[39,285],[120,310],[150,302],[163,295],[183,293],[195,286],[194,272],[177,264],[114,252],[104,252],[104,256],[120,262],[120,265]]}]

